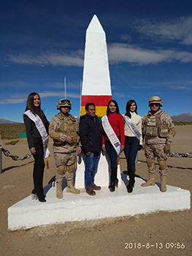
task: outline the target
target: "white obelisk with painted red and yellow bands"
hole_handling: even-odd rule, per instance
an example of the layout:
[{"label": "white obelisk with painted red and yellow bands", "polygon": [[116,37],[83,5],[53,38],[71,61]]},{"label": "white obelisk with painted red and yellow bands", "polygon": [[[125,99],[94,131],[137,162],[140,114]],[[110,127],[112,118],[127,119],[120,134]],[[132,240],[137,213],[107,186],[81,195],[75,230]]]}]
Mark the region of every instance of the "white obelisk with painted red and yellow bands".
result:
[{"label": "white obelisk with painted red and yellow bands", "polygon": [[[82,79],[82,97],[80,116],[84,115],[85,105],[94,102],[96,105],[96,115],[101,119],[107,113],[107,104],[112,99],[110,69],[107,55],[107,42],[104,29],[102,28],[96,15],[86,31],[85,58]],[[75,187],[85,187],[84,171],[85,164],[83,154],[77,164]],[[120,177],[120,168],[118,168]],[[109,164],[104,154],[99,159],[98,171],[95,182],[99,186],[109,185]]]}]

